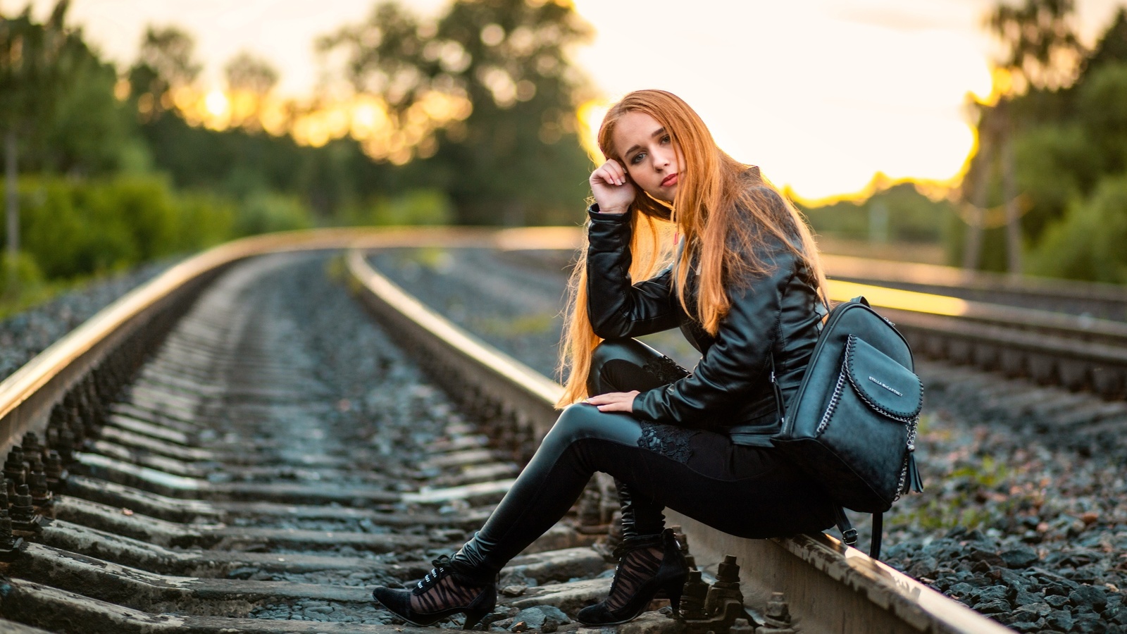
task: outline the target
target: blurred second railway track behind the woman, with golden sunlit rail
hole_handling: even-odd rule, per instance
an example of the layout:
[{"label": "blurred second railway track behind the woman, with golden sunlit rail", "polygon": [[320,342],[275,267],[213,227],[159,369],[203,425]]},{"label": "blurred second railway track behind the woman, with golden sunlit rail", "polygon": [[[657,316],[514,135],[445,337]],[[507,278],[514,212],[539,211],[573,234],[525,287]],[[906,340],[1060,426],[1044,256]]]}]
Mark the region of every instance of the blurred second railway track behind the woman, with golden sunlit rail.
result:
[{"label": "blurred second railway track behind the woman, with golden sunlit rail", "polygon": [[[524,262],[559,271],[578,235],[545,230]],[[552,246],[554,245],[554,246]],[[829,299],[864,296],[917,354],[1042,385],[1127,397],[1127,292],[1111,284],[1015,281],[911,263],[825,256]]]}]

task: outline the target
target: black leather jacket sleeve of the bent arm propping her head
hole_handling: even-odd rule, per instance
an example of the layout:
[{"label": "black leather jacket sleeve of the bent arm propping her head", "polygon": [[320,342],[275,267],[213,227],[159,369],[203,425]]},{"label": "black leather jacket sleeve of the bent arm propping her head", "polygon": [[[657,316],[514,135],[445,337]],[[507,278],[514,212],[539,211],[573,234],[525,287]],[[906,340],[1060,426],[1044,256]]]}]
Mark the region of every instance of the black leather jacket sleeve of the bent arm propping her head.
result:
[{"label": "black leather jacket sleeve of the bent arm propping her head", "polygon": [[681,302],[673,293],[673,274],[631,284],[630,218],[624,213],[588,211],[587,317],[603,338],[633,337],[678,325]]}]

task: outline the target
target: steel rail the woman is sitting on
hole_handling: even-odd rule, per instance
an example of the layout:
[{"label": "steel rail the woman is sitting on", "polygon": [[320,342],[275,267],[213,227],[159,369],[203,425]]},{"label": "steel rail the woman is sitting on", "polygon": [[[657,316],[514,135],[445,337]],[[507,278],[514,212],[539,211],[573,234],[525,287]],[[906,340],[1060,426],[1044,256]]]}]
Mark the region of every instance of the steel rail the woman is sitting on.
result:
[{"label": "steel rail the woman is sitting on", "polygon": [[[495,412],[502,426],[523,428],[517,435],[539,439],[553,424],[559,385],[410,297],[373,270],[362,249],[348,254],[347,265],[362,300],[444,387]],[[786,592],[804,633],[1010,632],[833,537],[742,539],[666,513],[685,528],[699,563],[715,566],[724,555],[737,556],[753,607],[762,609],[772,592]]]}]

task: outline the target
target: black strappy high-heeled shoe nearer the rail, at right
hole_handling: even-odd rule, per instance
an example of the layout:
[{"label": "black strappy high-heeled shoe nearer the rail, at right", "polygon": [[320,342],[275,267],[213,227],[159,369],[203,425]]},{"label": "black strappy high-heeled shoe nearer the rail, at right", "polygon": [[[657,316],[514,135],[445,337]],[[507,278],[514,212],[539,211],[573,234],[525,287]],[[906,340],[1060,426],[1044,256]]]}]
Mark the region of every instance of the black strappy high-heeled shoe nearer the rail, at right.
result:
[{"label": "black strappy high-heeled shoe nearer the rail, at right", "polygon": [[[662,549],[658,562],[651,549]],[[619,625],[633,620],[649,601],[665,591],[673,611],[681,608],[681,591],[689,576],[689,564],[673,530],[660,535],[630,537],[614,549],[619,566],[606,599],[579,610],[577,618],[584,625]],[[653,572],[651,572],[653,571]]]}]

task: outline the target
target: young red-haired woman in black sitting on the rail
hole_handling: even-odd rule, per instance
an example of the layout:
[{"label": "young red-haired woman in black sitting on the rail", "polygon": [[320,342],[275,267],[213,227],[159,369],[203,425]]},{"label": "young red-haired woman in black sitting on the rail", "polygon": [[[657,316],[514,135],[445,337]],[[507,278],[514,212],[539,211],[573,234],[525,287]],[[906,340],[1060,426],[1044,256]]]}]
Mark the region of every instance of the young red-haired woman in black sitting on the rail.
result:
[{"label": "young red-haired woman in black sitting on the rail", "polygon": [[[588,625],[630,620],[660,590],[677,606],[687,569],[665,507],[740,537],[834,523],[826,494],[770,441],[777,398],[798,389],[826,314],[802,219],[669,93],[627,95],[598,144],[606,162],[591,175],[564,341],[566,408],[469,543],[415,589],[374,590],[410,623],[465,613],[476,624],[502,566],[595,472],[616,481],[623,539],[610,595],[579,611]],[[629,338],[674,327],[702,354],[692,372]]]}]

